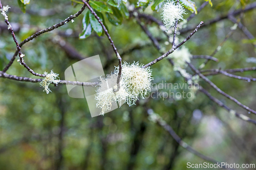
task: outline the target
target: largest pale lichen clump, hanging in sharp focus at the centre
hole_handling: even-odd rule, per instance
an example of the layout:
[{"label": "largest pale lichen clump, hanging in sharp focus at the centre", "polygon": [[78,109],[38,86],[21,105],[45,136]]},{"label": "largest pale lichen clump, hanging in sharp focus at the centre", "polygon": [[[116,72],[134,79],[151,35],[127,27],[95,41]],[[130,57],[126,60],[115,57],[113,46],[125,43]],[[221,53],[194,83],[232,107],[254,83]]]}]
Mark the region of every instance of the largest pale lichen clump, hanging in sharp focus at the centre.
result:
[{"label": "largest pale lichen clump, hanging in sharp focus at the centre", "polygon": [[139,65],[138,62],[133,64],[124,62],[119,88],[117,86],[118,72],[119,67],[116,67],[111,75],[99,79],[95,100],[97,101],[96,107],[102,109],[100,112],[102,115],[111,110],[114,102],[118,102],[119,107],[124,103],[132,106],[139,99],[139,95],[143,98],[147,92],[151,91],[152,71],[149,67],[143,68],[143,65]]}]

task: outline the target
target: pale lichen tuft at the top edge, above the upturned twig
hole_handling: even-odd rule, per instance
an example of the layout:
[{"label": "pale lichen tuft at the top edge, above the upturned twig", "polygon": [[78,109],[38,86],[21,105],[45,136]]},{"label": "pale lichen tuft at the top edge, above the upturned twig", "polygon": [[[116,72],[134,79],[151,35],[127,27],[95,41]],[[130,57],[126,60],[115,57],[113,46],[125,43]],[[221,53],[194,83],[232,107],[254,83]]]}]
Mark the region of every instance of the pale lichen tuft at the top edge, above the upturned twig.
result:
[{"label": "pale lichen tuft at the top edge, above the upturned twig", "polygon": [[167,1],[163,5],[162,19],[164,26],[166,27],[166,32],[173,26],[177,20],[183,20],[182,14],[186,14],[183,5],[175,1]]}]

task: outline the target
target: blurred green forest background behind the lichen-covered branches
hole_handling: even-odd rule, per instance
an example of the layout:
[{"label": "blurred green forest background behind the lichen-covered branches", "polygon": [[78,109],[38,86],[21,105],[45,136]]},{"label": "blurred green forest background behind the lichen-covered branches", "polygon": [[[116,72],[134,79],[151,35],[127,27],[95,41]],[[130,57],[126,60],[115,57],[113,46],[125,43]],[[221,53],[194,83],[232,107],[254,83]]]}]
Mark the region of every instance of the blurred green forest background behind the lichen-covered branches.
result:
[{"label": "blurred green forest background behind the lichen-covered branches", "polygon": [[[187,25],[198,25],[200,21],[226,15],[230,9],[240,9],[242,5],[253,2],[212,1],[212,7],[207,5]],[[195,3],[200,7],[204,1],[197,0]],[[9,21],[19,42],[64,20],[82,6],[67,0],[31,1],[26,5],[26,13],[23,13],[17,1],[3,0],[2,4],[11,7]],[[87,10],[73,23],[40,35],[22,47],[26,63],[35,72],[54,70],[61,80],[65,80],[66,68],[81,57],[94,55],[100,56],[105,74],[114,70],[118,61],[105,35],[99,37],[93,31],[87,39],[79,39],[83,29],[82,18]],[[144,12],[161,19],[161,9],[152,11],[148,7]],[[190,14],[187,10],[184,17]],[[0,17],[0,20],[2,70],[16,48],[4,18]],[[246,11],[241,19],[252,35],[256,35],[255,20],[256,10],[253,9]],[[160,40],[165,51],[171,48],[155,23],[143,19],[142,22]],[[160,56],[133,17],[123,17],[119,26],[113,26],[107,18],[105,23],[123,61],[146,64]],[[185,46],[193,55],[210,55],[233,25],[233,22],[224,19],[201,28]],[[179,40],[188,34],[178,35]],[[246,39],[240,29],[234,31],[215,55],[219,62],[210,61],[205,68],[256,66],[254,41]],[[191,62],[198,67],[204,60],[194,59]],[[153,83],[186,84],[166,59],[151,68]],[[16,60],[7,73],[35,78]],[[256,77],[255,71],[236,75]],[[223,75],[208,78],[241,103],[256,109],[254,82]],[[205,82],[200,80],[199,84],[233,110],[255,119],[255,115],[248,114]],[[52,93],[46,94],[39,83],[0,79],[0,169],[186,169],[187,162],[206,162],[186,151],[168,132],[148,119],[148,111],[159,114],[186,143],[206,156],[227,163],[256,163],[255,125],[230,116],[199,91],[195,92],[194,99],[140,99],[135,106],[125,104],[104,116],[92,118],[86,99],[70,98],[65,85],[51,85],[50,88]],[[189,91],[184,88],[171,90]],[[159,91],[169,92],[169,89]]]}]

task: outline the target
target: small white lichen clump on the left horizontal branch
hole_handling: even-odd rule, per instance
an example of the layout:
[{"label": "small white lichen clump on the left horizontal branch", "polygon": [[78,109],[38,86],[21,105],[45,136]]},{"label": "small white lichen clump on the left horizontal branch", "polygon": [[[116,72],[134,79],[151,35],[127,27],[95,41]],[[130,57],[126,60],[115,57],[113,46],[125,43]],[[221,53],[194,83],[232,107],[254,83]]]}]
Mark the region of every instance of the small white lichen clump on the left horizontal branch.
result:
[{"label": "small white lichen clump on the left horizontal branch", "polygon": [[50,73],[48,72],[44,72],[44,75],[46,75],[46,77],[44,79],[42,79],[39,84],[40,86],[44,87],[44,90],[43,91],[46,91],[47,94],[49,94],[49,92],[52,92],[49,88],[49,85],[51,83],[54,83],[54,84],[58,84],[59,83],[59,80],[57,78],[59,78],[59,74],[56,74],[55,72],[53,72],[53,70],[51,70]]}]

